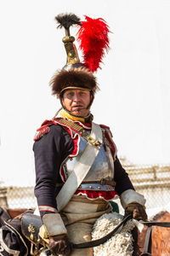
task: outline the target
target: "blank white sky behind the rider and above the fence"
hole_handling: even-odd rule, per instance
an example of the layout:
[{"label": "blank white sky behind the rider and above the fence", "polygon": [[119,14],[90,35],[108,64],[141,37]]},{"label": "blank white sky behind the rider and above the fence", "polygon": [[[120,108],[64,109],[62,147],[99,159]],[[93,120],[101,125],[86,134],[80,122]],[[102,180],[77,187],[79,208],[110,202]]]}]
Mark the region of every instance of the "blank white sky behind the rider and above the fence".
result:
[{"label": "blank white sky behind the rider and above the fence", "polygon": [[102,17],[111,28],[111,50],[96,73],[94,121],[111,127],[119,156],[170,163],[169,0],[6,0],[0,8],[0,178],[34,181],[34,134],[59,108],[48,82],[65,65],[65,32],[54,22],[65,12]]}]

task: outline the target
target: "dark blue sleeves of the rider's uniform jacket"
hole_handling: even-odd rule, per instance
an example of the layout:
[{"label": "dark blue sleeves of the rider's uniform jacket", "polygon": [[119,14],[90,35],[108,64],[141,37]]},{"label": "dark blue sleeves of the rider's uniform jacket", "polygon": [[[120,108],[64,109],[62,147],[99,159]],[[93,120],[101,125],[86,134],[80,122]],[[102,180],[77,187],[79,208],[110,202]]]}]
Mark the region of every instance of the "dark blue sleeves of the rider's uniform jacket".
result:
[{"label": "dark blue sleeves of the rider's uniform jacket", "polygon": [[[74,143],[68,131],[61,125],[51,125],[49,131],[33,145],[36,166],[35,195],[38,206],[49,206],[57,209],[55,197],[60,187],[56,183],[62,183],[59,176],[59,168],[65,158],[72,153]],[[114,163],[116,192],[121,195],[127,189],[133,189],[127,172],[122,168],[118,158]],[[48,211],[40,212],[41,216]]]}]

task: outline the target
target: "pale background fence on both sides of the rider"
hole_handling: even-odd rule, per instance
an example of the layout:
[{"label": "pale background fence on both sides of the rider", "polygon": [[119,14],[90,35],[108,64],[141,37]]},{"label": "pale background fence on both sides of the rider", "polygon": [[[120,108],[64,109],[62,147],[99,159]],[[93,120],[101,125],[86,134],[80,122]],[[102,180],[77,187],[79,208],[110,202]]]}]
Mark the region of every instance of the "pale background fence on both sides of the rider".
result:
[{"label": "pale background fence on both sides of the rider", "polygon": [[[146,198],[146,208],[156,211],[170,207],[170,166],[134,166],[122,159],[122,166],[126,169],[137,192]],[[119,200],[120,212],[122,207]],[[0,184],[0,205],[11,208],[36,207],[33,187],[4,187]]]}]

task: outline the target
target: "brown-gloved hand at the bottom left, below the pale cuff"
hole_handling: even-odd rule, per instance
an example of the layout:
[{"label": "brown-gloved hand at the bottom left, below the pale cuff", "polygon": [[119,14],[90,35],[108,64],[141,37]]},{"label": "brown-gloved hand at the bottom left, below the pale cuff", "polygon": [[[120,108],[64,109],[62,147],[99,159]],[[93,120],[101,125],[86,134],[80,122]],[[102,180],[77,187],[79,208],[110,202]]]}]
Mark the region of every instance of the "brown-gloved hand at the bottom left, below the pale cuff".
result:
[{"label": "brown-gloved hand at the bottom left, below the pale cuff", "polygon": [[69,256],[71,254],[71,245],[67,235],[52,236],[49,239],[48,247],[55,256],[58,254]]}]

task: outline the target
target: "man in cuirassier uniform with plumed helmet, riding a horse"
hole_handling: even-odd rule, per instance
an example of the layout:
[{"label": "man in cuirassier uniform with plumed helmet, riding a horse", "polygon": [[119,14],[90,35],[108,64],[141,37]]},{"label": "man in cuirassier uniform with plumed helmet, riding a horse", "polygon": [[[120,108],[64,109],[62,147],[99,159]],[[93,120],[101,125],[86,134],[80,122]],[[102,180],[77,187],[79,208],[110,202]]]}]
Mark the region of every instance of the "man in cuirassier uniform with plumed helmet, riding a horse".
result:
[{"label": "man in cuirassier uniform with plumed helmet, riding a horse", "polygon": [[[56,20],[60,27],[65,27],[67,64],[50,83],[62,109],[38,129],[33,148],[37,173],[35,195],[44,227],[40,233],[43,239],[48,238],[48,247],[54,255],[93,255],[92,248],[71,252],[70,241],[90,241],[95,220],[111,212],[109,201],[117,195],[125,212],[131,212],[137,219],[147,218],[145,200],[133,189],[117,158],[109,127],[93,122],[90,107],[98,86],[92,71],[97,69],[95,65],[99,67],[98,60],[95,58],[93,67],[88,65],[93,58],[90,53],[88,62],[89,51],[86,55],[85,47],[82,51],[86,62],[80,63],[70,36],[70,26],[77,24],[81,26],[79,40],[82,37],[83,41],[82,33],[85,33],[86,44],[87,26],[95,32],[102,27],[104,37],[109,32],[105,20],[98,19],[97,28],[94,28],[96,20],[88,17],[82,23],[75,15],[58,15]],[[102,37],[98,35],[99,40]],[[96,43],[94,38],[99,46],[101,42]],[[107,45],[107,38],[105,42]]]}]

